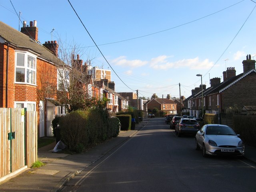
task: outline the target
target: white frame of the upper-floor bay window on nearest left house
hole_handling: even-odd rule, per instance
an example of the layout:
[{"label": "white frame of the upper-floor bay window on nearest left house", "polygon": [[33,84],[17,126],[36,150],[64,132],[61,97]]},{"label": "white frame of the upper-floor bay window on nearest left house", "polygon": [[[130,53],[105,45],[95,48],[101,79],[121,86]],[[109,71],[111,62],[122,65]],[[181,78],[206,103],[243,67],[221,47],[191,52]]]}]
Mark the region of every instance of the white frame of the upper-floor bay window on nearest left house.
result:
[{"label": "white frame of the upper-floor bay window on nearest left house", "polygon": [[[24,66],[20,66],[17,64],[18,54],[24,55]],[[33,58],[34,62],[28,62],[28,58]],[[17,69],[24,70],[24,82],[22,81],[16,81],[17,77]],[[22,52],[22,51],[16,51],[15,52],[15,77],[14,77],[15,83],[19,84],[30,84],[30,85],[36,85],[36,55],[28,53],[28,52]]]}]

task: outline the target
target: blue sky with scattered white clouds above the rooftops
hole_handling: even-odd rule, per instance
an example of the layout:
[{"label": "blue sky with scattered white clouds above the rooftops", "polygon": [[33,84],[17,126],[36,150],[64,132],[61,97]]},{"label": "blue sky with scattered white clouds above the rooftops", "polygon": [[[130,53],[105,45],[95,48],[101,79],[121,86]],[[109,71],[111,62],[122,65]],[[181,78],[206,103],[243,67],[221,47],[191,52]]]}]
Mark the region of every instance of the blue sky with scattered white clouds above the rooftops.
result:
[{"label": "blue sky with scattered white clouds above the rooftops", "polygon": [[0,0],[0,20],[16,30],[36,20],[40,43],[76,47],[84,62],[111,70],[116,92],[188,98],[201,84],[196,74],[208,88],[228,67],[242,73],[246,55],[256,59],[255,7],[256,0]]}]

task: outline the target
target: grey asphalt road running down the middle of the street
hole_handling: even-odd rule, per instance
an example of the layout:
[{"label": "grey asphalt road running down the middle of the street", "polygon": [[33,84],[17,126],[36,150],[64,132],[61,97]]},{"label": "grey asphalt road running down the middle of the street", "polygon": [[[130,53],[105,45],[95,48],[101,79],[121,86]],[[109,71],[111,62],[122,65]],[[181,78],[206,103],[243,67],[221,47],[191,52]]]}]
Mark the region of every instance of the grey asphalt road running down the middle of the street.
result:
[{"label": "grey asphalt road running down the middle of the street", "polygon": [[70,180],[77,192],[255,192],[256,168],[244,159],[202,157],[194,138],[178,138],[152,118],[126,143]]}]

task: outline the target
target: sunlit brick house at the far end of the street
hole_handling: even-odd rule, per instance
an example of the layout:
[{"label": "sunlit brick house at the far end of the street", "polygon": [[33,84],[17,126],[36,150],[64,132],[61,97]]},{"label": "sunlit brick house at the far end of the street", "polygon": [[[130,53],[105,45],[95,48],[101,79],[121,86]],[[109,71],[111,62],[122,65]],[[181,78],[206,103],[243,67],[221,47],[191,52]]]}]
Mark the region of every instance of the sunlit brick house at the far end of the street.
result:
[{"label": "sunlit brick house at the far end of the street", "polygon": [[148,111],[153,111],[154,108],[158,110],[163,110],[166,114],[176,114],[177,113],[177,104],[171,100],[166,98],[156,98],[147,101],[146,107]]}]

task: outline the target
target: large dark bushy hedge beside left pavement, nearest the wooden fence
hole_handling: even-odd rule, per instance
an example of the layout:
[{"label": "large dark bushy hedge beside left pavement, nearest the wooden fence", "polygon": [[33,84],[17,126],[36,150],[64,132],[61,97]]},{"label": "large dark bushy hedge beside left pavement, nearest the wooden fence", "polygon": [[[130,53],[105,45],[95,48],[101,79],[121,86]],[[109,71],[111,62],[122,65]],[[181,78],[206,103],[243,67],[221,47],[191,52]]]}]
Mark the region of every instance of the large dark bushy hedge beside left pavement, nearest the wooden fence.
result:
[{"label": "large dark bushy hedge beside left pavement, nearest the wooden fence", "polygon": [[60,118],[61,140],[69,150],[84,152],[86,148],[119,134],[120,121],[109,117],[107,111],[90,109],[73,111]]}]

